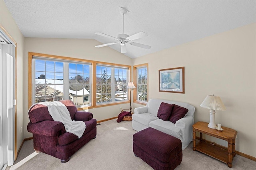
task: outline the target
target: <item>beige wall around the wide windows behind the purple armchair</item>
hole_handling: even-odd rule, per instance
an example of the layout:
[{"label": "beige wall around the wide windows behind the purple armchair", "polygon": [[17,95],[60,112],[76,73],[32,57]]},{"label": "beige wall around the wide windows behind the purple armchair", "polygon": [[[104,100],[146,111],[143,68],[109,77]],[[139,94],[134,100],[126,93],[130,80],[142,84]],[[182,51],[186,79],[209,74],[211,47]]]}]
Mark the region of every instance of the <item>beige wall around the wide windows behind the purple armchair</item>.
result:
[{"label": "beige wall around the wide windows behind the purple armchair", "polygon": [[[132,65],[132,59],[110,47],[96,48],[100,43],[93,39],[54,39],[54,38],[25,38],[24,45],[24,127],[28,125],[28,52],[73,57],[79,59],[101,61],[107,63]],[[130,104],[120,104],[107,107],[89,109],[97,121],[118,116],[122,108],[129,108]],[[28,131],[24,138],[32,137]]]}]

